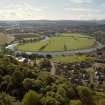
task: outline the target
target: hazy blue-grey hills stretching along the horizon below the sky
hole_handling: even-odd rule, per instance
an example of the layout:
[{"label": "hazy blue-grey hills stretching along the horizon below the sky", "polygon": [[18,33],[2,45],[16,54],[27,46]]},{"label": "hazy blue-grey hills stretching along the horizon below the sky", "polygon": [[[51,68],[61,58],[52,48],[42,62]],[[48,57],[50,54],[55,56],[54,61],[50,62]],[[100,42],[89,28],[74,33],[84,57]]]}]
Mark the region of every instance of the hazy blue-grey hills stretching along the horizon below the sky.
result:
[{"label": "hazy blue-grey hills stretching along the horizon below the sky", "polygon": [[70,25],[70,26],[95,26],[103,25],[105,20],[26,20],[26,21],[0,21],[0,27],[4,28],[19,28],[19,27],[34,27],[34,26],[56,26],[56,25]]}]

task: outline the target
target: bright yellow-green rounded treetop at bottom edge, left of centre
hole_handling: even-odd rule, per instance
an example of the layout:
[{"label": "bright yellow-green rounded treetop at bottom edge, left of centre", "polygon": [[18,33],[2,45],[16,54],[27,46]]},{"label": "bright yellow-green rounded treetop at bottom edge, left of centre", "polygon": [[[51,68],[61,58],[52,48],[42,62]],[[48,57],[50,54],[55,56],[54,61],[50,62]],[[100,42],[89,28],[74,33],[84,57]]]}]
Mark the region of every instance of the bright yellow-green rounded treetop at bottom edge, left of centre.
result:
[{"label": "bright yellow-green rounded treetop at bottom edge, left of centre", "polygon": [[22,100],[23,105],[40,105],[40,96],[33,90],[28,91]]}]

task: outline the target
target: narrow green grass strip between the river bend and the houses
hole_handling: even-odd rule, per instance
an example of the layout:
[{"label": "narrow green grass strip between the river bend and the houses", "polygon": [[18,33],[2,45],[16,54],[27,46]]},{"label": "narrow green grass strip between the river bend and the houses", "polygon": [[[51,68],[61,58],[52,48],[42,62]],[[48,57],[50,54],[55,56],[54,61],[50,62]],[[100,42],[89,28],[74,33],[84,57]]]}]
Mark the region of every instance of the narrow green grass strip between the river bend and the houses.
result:
[{"label": "narrow green grass strip between the river bend and the houses", "polygon": [[81,61],[86,61],[88,59],[89,58],[85,55],[58,56],[58,57],[52,58],[53,61],[64,62],[64,63],[81,62]]}]

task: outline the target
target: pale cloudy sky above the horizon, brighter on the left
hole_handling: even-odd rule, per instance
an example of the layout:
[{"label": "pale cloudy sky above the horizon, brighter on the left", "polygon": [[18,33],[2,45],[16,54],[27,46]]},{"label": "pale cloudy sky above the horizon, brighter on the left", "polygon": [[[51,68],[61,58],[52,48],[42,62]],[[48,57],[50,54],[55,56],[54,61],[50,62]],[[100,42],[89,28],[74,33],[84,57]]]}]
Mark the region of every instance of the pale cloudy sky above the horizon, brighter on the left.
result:
[{"label": "pale cloudy sky above the horizon, brighter on the left", "polygon": [[105,0],[0,0],[0,20],[42,19],[105,19]]}]

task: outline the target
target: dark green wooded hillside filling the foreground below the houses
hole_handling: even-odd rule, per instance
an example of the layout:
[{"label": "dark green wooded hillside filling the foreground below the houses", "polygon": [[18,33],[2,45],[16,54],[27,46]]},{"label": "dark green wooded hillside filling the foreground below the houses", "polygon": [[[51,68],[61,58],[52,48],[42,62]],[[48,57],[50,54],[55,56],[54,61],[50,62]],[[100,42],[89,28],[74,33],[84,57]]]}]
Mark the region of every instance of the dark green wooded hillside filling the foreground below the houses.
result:
[{"label": "dark green wooded hillside filling the foreground below the houses", "polygon": [[48,62],[35,67],[0,55],[0,105],[104,105],[104,92],[51,75]]}]

